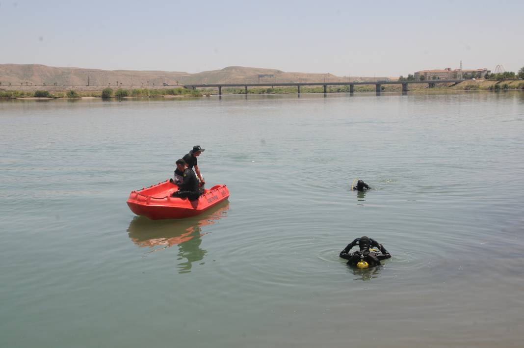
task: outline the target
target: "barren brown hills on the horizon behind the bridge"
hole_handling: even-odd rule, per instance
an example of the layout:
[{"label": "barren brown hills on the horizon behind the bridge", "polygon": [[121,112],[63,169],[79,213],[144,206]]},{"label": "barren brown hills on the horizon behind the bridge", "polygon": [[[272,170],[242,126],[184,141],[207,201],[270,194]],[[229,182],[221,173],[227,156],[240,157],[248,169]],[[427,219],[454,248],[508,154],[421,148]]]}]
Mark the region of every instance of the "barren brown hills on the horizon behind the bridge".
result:
[{"label": "barren brown hills on the horizon behind the bridge", "polygon": [[[351,81],[385,78],[351,77]],[[348,77],[330,73],[310,74],[277,69],[227,67],[221,70],[187,73],[180,71],[99,70],[48,67],[40,64],[0,64],[0,88],[20,85],[169,85],[200,83],[344,82]]]}]

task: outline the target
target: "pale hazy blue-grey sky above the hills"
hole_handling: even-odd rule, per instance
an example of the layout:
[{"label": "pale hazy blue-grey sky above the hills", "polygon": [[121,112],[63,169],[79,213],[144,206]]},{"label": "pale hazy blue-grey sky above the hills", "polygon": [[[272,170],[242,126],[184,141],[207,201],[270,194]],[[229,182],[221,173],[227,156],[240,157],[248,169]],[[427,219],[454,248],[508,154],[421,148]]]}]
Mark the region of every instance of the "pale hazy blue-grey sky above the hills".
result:
[{"label": "pale hazy blue-grey sky above the hills", "polygon": [[524,1],[0,0],[0,63],[398,76],[524,66]]}]

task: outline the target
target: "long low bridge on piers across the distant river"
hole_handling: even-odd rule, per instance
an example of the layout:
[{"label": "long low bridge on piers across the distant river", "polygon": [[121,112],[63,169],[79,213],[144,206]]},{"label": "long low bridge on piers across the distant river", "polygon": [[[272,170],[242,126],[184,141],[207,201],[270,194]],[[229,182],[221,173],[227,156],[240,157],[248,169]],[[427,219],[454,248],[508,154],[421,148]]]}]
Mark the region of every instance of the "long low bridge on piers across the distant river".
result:
[{"label": "long low bridge on piers across the distant river", "polygon": [[374,84],[376,86],[377,93],[380,93],[383,84],[401,84],[402,92],[408,91],[408,84],[421,84],[427,83],[429,88],[433,88],[437,83],[460,83],[465,80],[423,80],[423,81],[366,81],[366,82],[279,82],[279,83],[210,83],[210,84],[184,84],[184,88],[193,89],[205,88],[205,87],[218,87],[219,95],[222,95],[222,87],[244,87],[245,93],[247,94],[248,87],[275,87],[275,86],[297,86],[297,92],[300,94],[301,86],[323,86],[324,93],[328,93],[328,86],[350,86],[350,93],[353,93],[355,85],[359,84]]}]

